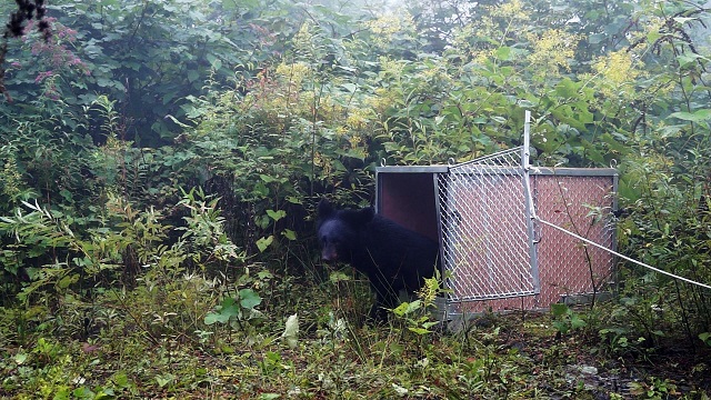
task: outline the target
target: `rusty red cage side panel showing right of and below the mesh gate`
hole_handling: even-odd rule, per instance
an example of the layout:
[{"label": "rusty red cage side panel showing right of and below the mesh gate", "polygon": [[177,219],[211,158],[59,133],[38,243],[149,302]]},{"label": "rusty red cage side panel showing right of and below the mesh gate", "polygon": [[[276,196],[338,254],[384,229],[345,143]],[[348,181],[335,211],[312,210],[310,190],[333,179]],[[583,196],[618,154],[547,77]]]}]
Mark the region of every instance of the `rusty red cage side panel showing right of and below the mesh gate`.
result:
[{"label": "rusty red cage side panel showing right of and below the mesh gate", "polygon": [[[539,218],[613,248],[613,177],[533,176],[531,183]],[[547,226],[539,226],[537,232],[539,294],[467,302],[457,304],[457,311],[544,309],[563,297],[599,292],[610,282],[614,269],[610,252]]]}]

